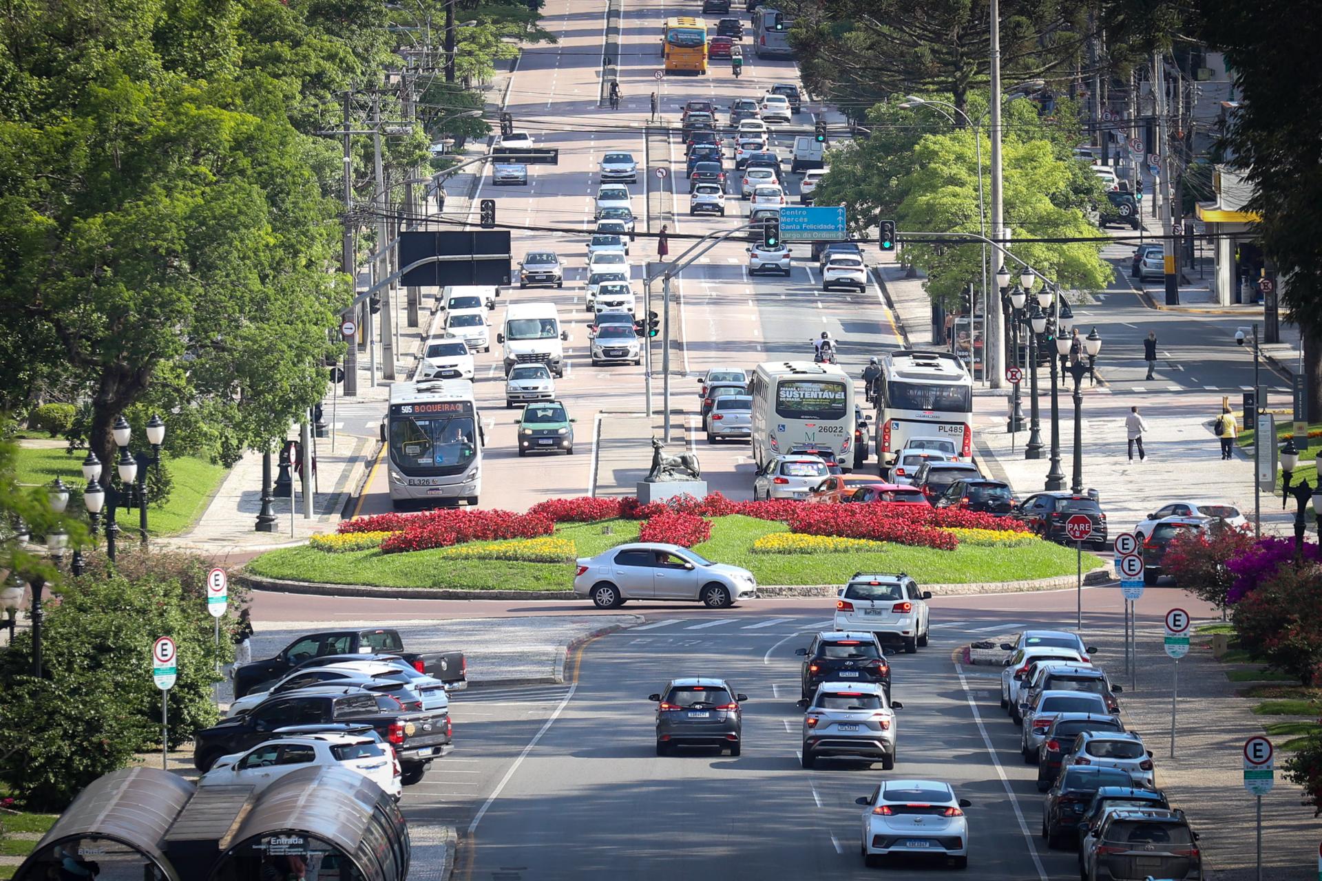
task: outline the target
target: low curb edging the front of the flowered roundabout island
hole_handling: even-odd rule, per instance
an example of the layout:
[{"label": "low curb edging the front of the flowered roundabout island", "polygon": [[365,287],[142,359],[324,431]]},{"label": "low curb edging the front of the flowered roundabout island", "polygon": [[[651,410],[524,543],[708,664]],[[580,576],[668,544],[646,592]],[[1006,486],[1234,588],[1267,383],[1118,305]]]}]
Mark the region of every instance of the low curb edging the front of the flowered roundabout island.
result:
[{"label": "low curb edging the front of the flowered roundabout island", "polygon": [[[267,590],[271,593],[300,593],[324,597],[378,597],[383,600],[583,600],[572,590],[460,590],[451,588],[381,588],[365,584],[323,584],[319,581],[286,581],[283,579],[267,579],[254,576],[242,569],[231,572],[231,579],[238,580],[251,590]],[[1085,572],[1083,582],[1085,585],[1100,585],[1110,581],[1110,575],[1105,568]],[[932,590],[933,596],[977,596],[984,593],[1025,593],[1032,590],[1058,590],[1072,586],[1076,576],[1062,575],[1050,579],[1031,579],[1026,581],[993,581],[968,584],[928,584],[923,585]],[[758,593],[763,597],[795,598],[795,597],[834,597],[839,589],[838,584],[767,584],[759,585]],[[620,625],[621,627],[624,625]],[[619,627],[616,627],[619,629]],[[604,630],[603,633],[609,633]],[[592,634],[602,635],[602,634]],[[590,637],[584,637],[587,639]],[[570,643],[572,647],[574,643]],[[563,670],[562,670],[563,674]],[[553,680],[559,682],[559,680]]]}]

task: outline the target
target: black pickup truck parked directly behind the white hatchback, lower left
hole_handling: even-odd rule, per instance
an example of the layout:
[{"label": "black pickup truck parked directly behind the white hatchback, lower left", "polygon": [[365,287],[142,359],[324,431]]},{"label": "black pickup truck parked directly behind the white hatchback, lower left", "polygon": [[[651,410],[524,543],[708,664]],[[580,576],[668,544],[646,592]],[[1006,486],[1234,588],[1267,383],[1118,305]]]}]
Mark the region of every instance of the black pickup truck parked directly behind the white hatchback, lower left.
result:
[{"label": "black pickup truck parked directly behind the white hatchback, lower left", "polygon": [[448,711],[406,712],[389,695],[364,688],[317,688],[271,697],[243,716],[197,732],[193,765],[205,773],[219,757],[271,740],[276,729],[333,722],[371,725],[395,748],[406,786],[420,781],[431,761],[452,749]]}]

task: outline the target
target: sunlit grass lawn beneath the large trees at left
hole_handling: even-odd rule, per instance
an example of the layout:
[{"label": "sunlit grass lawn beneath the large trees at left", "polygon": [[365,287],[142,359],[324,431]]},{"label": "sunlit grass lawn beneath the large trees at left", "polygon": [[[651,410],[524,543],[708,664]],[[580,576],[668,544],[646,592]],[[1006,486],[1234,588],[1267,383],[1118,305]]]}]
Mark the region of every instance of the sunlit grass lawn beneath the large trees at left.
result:
[{"label": "sunlit grass lawn beneath the large trees at left", "polygon": [[[54,449],[20,446],[15,462],[17,479],[20,483],[49,483],[59,477],[69,486],[81,489],[85,485],[83,457],[85,452],[69,454],[62,446]],[[147,526],[152,535],[176,535],[193,526],[229,473],[219,465],[192,456],[167,461],[175,478],[175,487],[164,507],[153,505],[147,509]],[[137,515],[126,515],[120,511],[118,520],[122,528],[127,528],[136,526]]]}]

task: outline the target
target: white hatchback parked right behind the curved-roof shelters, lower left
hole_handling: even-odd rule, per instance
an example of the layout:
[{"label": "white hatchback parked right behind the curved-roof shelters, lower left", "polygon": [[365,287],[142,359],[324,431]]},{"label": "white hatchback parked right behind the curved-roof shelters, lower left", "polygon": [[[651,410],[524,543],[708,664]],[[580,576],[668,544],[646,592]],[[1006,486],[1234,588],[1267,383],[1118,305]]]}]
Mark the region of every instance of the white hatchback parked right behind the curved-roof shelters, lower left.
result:
[{"label": "white hatchback parked right behind the curved-roof shelters, lower left", "polygon": [[340,765],[362,774],[397,802],[403,795],[394,748],[365,734],[305,734],[279,737],[245,753],[222,756],[202,774],[198,786],[266,789],[286,774],[316,765]]}]

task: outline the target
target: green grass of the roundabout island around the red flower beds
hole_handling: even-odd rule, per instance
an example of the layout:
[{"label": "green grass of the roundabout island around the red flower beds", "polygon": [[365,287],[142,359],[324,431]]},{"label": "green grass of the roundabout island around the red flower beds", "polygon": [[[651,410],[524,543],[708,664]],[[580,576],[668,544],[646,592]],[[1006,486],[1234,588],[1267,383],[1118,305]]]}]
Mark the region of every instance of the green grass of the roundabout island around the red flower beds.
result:
[{"label": "green grass of the roundabout island around the red flower beds", "polygon": [[[574,542],[576,556],[594,556],[624,542],[637,540],[639,520],[562,523],[555,535]],[[711,539],[694,547],[710,560],[750,569],[759,584],[843,584],[854,572],[908,572],[923,584],[1021,581],[1069,575],[1075,552],[1050,542],[1026,546],[980,547],[961,543],[954,551],[884,544],[880,552],[754,553],[763,535],[785,532],[775,520],[730,515],[711,520]],[[488,543],[471,543],[473,546]],[[373,548],[327,553],[307,546],[270,551],[246,564],[254,576],[325,584],[364,584],[385,588],[453,588],[467,590],[568,590],[574,567],[568,563],[509,560],[453,560],[446,548],[381,553]],[[1103,564],[1084,555],[1084,571]]]}]

